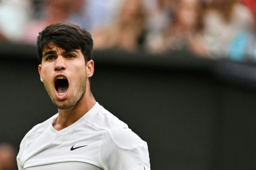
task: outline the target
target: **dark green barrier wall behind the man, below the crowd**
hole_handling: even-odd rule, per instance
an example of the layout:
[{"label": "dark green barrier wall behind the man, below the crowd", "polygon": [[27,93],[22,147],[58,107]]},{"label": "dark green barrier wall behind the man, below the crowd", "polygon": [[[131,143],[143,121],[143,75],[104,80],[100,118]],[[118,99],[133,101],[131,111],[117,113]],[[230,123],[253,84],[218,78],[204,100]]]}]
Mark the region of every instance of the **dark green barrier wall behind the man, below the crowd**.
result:
[{"label": "dark green barrier wall behind the man, below the crowd", "polygon": [[[0,44],[0,141],[17,149],[57,109],[39,79],[36,49]],[[152,170],[255,169],[256,68],[165,56],[94,51],[96,100],[147,141]]]}]

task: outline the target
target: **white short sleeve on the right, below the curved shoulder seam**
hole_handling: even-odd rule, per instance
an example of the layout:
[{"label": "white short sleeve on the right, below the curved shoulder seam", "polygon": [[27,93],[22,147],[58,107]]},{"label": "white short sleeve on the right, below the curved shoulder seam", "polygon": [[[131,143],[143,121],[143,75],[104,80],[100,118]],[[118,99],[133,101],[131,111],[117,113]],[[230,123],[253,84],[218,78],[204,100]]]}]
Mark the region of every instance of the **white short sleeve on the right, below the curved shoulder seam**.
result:
[{"label": "white short sleeve on the right, below the curved shoulder seam", "polygon": [[150,170],[147,146],[124,149],[116,145],[108,132],[102,139],[100,158],[104,170]]}]

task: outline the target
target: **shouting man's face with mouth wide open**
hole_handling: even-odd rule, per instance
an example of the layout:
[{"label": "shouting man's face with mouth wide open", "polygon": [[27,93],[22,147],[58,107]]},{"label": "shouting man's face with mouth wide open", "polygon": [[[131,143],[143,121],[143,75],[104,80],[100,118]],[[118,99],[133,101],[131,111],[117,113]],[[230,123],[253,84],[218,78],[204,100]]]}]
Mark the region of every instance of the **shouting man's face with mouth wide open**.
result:
[{"label": "shouting man's face with mouth wide open", "polygon": [[49,43],[43,49],[40,79],[48,95],[59,109],[68,109],[78,103],[85,94],[88,66],[81,50],[64,49]]}]

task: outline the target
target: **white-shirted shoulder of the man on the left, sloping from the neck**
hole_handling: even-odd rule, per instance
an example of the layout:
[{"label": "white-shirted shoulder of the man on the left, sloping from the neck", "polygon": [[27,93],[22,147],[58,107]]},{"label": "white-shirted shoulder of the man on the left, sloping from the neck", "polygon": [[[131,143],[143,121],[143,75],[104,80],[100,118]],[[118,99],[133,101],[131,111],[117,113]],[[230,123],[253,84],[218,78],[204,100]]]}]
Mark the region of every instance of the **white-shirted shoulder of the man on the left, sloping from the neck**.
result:
[{"label": "white-shirted shoulder of the man on the left, sloping from the neck", "polygon": [[54,116],[45,120],[44,122],[35,125],[30,131],[27,132],[27,134],[24,136],[20,144],[22,144],[27,138],[31,136],[34,136],[38,133],[45,132],[49,128],[49,124],[52,123],[53,119],[56,118],[57,115],[58,114],[55,114]]}]

